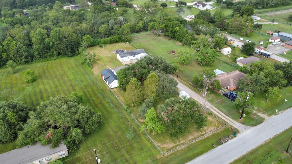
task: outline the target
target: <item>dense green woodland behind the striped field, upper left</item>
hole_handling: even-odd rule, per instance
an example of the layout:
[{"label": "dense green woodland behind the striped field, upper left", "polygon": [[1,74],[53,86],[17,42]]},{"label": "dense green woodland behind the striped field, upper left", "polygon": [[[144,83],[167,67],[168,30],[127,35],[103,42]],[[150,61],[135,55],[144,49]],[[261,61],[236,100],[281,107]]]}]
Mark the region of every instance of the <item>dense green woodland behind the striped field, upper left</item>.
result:
[{"label": "dense green woodland behind the striped field, upper left", "polygon": [[[2,1],[3,2],[3,1]],[[54,9],[48,4],[28,10],[4,10],[0,20],[0,66],[9,60],[17,64],[78,54],[82,38],[89,35],[92,44],[115,43],[130,40],[130,24],[122,17],[123,10],[114,6],[95,3],[93,10],[62,9],[55,2]],[[50,11],[50,12],[47,12]]]}]

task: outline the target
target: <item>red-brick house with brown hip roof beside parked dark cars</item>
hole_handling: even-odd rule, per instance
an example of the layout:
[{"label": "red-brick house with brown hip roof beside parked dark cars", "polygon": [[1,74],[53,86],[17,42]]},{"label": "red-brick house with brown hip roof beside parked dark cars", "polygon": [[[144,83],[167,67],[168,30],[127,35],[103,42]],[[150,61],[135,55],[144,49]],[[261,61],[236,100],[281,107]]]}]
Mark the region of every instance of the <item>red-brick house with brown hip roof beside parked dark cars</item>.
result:
[{"label": "red-brick house with brown hip roof beside parked dark cars", "polygon": [[235,90],[237,89],[237,83],[238,81],[245,77],[246,74],[235,70],[232,72],[228,72],[228,73],[222,73],[222,74],[218,74],[217,77],[215,77],[216,80],[220,81],[221,84],[221,92],[223,92],[224,90]]}]

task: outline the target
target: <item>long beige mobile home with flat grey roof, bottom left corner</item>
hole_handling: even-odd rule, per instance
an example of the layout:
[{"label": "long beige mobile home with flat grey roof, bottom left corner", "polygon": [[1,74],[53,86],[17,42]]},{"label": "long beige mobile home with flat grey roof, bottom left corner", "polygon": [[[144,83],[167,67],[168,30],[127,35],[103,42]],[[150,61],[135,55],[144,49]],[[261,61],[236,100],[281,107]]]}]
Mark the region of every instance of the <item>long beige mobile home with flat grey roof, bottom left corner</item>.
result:
[{"label": "long beige mobile home with flat grey roof, bottom left corner", "polygon": [[35,145],[28,145],[0,154],[0,161],[3,164],[46,164],[65,156],[68,156],[68,149],[64,143],[51,149],[50,145],[42,146],[41,143],[36,142]]}]

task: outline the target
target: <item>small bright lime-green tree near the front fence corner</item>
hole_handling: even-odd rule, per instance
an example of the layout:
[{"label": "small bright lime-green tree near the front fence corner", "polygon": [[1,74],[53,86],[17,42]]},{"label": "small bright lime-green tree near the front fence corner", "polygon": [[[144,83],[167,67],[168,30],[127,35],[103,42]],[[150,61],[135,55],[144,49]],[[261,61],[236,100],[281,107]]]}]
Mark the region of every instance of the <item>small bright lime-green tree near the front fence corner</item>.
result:
[{"label": "small bright lime-green tree near the front fence corner", "polygon": [[147,113],[145,116],[145,124],[142,125],[140,128],[141,131],[147,130],[147,132],[150,132],[152,130],[153,133],[159,133],[165,131],[165,127],[163,124],[158,122],[156,111],[154,108],[150,108],[147,110]]}]

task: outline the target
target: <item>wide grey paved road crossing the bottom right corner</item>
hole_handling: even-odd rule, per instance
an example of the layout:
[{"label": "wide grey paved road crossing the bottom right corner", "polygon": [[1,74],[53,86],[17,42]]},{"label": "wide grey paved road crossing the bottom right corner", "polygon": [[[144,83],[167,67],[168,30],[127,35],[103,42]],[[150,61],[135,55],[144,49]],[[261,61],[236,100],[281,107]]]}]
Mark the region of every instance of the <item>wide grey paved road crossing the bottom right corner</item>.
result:
[{"label": "wide grey paved road crossing the bottom right corner", "polygon": [[[292,126],[292,108],[267,118],[263,123],[240,133],[234,139],[188,162],[188,164],[225,164]],[[288,141],[287,141],[288,144]]]}]

